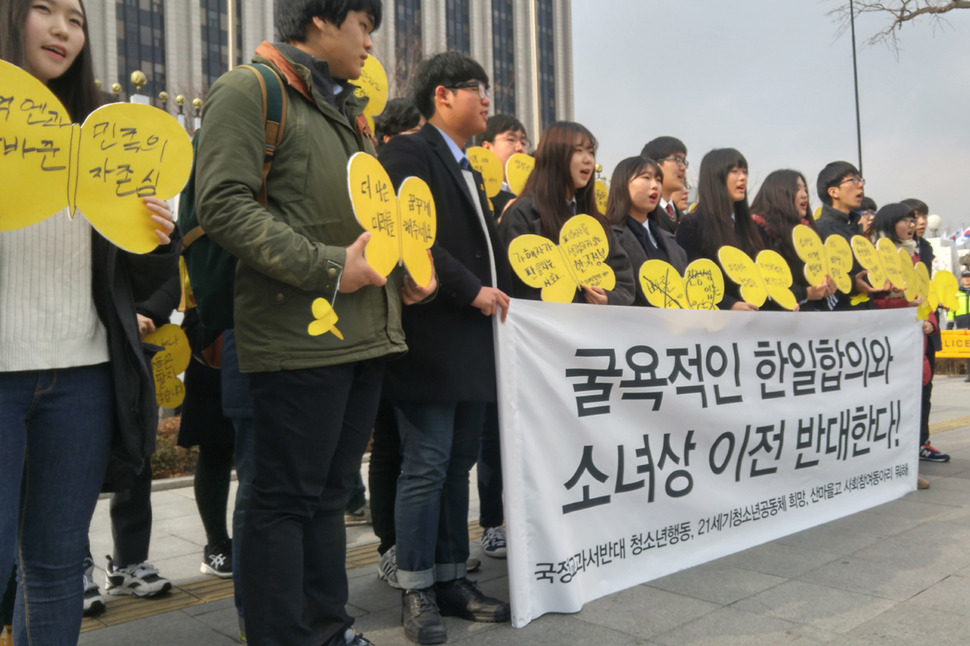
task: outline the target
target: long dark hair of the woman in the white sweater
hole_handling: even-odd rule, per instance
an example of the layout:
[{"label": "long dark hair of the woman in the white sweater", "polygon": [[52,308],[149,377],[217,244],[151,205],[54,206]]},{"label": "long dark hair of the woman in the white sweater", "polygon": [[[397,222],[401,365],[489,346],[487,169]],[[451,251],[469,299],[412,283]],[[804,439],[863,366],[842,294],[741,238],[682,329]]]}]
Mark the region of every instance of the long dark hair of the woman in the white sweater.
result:
[{"label": "long dark hair of the woman in the white sweater", "polygon": [[[78,0],[78,4],[84,12],[84,2]],[[24,31],[31,5],[31,0],[0,0],[0,16],[7,16],[7,19],[0,24],[0,36],[2,36],[0,37],[0,58],[21,69],[27,69]],[[84,121],[101,105],[101,93],[94,85],[94,63],[86,13],[81,28],[84,33],[84,45],[74,59],[74,63],[64,74],[47,83],[48,89],[64,104],[71,120],[75,122]]]}]

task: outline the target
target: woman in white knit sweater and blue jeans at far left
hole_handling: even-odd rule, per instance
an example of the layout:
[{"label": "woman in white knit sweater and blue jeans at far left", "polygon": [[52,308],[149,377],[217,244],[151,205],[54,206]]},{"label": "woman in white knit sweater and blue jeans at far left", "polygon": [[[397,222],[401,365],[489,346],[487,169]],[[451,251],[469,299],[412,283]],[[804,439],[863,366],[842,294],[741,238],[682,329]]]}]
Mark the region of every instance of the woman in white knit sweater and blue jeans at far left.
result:
[{"label": "woman in white knit sweater and blue jeans at far left", "polygon": [[[0,0],[0,14],[0,56],[83,121],[99,94],[81,1]],[[112,471],[118,482],[154,444],[135,301],[170,275],[181,244],[165,202],[144,202],[162,245],[150,254],[123,252],[67,209],[0,232],[0,564],[19,561],[18,644],[77,641],[88,524],[109,454],[124,467]]]}]

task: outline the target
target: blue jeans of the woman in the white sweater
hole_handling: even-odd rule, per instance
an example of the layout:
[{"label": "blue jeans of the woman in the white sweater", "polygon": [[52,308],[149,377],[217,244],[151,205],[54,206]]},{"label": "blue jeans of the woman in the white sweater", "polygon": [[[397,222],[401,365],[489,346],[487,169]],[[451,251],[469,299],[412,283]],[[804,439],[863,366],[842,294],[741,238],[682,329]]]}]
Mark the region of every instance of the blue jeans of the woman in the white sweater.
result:
[{"label": "blue jeans of the woman in the white sweater", "polygon": [[20,563],[18,644],[77,642],[88,525],[113,425],[106,363],[0,373],[0,563]]}]

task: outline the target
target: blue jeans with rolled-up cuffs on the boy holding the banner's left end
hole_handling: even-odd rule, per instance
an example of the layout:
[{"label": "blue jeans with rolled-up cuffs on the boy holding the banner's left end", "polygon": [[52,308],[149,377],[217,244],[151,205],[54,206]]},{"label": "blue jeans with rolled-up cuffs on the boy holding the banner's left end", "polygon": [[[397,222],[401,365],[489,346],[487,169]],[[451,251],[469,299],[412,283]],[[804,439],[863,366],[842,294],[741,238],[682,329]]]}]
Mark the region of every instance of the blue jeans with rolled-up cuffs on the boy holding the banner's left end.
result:
[{"label": "blue jeans with rolled-up cuffs on the boy holding the banner's left end", "polygon": [[397,580],[405,590],[465,576],[468,472],[478,459],[484,402],[395,403],[401,433]]}]

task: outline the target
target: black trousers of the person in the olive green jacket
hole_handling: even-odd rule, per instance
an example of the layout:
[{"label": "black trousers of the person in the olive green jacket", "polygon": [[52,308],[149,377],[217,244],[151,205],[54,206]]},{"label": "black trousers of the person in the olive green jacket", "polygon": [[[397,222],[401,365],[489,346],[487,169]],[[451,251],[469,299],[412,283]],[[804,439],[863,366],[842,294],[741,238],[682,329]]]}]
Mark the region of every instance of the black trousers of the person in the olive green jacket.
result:
[{"label": "black trousers of the person in the olive green jacket", "polygon": [[255,477],[240,574],[254,646],[318,646],[353,624],[344,506],[383,374],[369,360],[250,375]]}]

